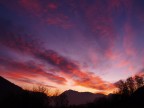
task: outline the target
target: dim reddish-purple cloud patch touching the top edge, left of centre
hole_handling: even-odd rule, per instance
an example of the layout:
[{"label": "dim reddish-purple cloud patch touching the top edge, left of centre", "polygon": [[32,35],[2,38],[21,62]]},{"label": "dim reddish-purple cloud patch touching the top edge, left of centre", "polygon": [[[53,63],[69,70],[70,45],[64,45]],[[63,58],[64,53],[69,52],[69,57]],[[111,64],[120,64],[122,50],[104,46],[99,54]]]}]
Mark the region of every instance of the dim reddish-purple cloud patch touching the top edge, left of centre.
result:
[{"label": "dim reddish-purple cloud patch touching the top edge, left of centre", "polygon": [[[42,23],[64,29],[70,29],[74,26],[69,17],[59,11],[59,2],[20,0],[19,5],[22,6],[27,13],[38,17]],[[57,11],[59,12],[57,13]]]}]

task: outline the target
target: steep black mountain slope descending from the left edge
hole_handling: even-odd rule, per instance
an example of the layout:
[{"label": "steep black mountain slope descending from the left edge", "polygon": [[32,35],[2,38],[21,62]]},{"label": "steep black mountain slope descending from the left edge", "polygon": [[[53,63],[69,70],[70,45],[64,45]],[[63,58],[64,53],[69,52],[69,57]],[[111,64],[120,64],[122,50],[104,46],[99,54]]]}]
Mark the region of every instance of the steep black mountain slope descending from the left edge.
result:
[{"label": "steep black mountain slope descending from the left edge", "polygon": [[7,96],[9,94],[16,94],[21,91],[21,87],[0,76],[0,97]]}]

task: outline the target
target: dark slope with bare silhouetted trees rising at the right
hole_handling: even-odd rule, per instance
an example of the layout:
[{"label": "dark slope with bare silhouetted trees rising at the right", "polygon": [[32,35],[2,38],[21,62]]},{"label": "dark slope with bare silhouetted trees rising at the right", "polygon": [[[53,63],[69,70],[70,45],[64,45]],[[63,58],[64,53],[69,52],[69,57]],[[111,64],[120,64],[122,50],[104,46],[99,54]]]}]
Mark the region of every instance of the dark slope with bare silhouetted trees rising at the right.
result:
[{"label": "dark slope with bare silhouetted trees rising at the right", "polygon": [[92,103],[77,108],[144,108],[144,78],[129,77],[115,83],[117,90]]}]

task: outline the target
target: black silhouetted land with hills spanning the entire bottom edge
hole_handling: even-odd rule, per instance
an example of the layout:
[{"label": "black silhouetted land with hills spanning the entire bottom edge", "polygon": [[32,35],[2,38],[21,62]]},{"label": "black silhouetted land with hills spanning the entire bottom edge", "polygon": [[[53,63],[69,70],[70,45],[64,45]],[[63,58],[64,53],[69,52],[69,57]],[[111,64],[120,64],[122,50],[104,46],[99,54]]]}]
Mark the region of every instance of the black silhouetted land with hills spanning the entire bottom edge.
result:
[{"label": "black silhouetted land with hills spanning the entire bottom edge", "polygon": [[144,86],[130,95],[67,90],[59,96],[27,91],[0,77],[0,108],[144,108]]}]

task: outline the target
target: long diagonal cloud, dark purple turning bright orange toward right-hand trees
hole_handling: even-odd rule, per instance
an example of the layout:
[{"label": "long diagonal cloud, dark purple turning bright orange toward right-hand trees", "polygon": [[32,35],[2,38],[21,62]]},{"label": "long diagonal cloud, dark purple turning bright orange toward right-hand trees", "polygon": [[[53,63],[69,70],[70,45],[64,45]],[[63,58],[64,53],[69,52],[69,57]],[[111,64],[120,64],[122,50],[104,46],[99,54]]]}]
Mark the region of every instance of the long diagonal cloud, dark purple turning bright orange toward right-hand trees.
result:
[{"label": "long diagonal cloud, dark purple turning bright orange toward right-hand trees", "polygon": [[81,71],[71,60],[64,58],[52,50],[43,53],[40,56],[40,59],[43,59],[44,61],[59,68],[66,76],[71,78],[77,86],[84,86],[99,90],[106,90],[109,89],[109,87],[113,87],[112,84],[103,81],[100,77],[89,72]]}]

